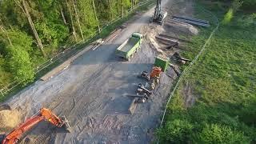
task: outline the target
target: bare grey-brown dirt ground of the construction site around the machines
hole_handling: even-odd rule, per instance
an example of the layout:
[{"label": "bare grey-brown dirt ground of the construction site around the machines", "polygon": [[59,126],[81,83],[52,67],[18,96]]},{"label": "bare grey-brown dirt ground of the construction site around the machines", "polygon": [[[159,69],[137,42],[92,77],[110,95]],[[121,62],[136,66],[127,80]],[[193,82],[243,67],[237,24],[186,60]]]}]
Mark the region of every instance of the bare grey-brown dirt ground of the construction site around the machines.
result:
[{"label": "bare grey-brown dirt ground of the construction site around the machines", "polygon": [[[190,16],[190,1],[163,0],[163,10],[169,15]],[[30,118],[40,108],[46,107],[57,115],[65,115],[72,126],[71,133],[59,131],[48,122],[42,122],[26,133],[22,142],[29,138],[31,143],[150,143],[154,141],[154,129],[159,126],[161,116],[170,96],[170,88],[177,78],[168,68],[162,74],[160,84],[146,103],[138,104],[134,114],[128,108],[143,70],[150,71],[154,58],[165,53],[162,46],[154,43],[154,34],[172,33],[172,28],[150,22],[154,8],[145,14],[137,14],[126,23],[126,28],[113,40],[96,50],[89,50],[47,81],[35,82],[10,98],[9,103],[21,114],[21,121]],[[153,31],[154,30],[154,31]],[[158,31],[159,30],[159,31]],[[142,49],[134,54],[130,62],[117,58],[114,50],[133,32],[146,34]],[[179,31],[179,30],[178,30]],[[176,33],[177,35],[178,33]],[[165,53],[170,56],[170,53]],[[168,75],[168,76],[167,76]]]}]

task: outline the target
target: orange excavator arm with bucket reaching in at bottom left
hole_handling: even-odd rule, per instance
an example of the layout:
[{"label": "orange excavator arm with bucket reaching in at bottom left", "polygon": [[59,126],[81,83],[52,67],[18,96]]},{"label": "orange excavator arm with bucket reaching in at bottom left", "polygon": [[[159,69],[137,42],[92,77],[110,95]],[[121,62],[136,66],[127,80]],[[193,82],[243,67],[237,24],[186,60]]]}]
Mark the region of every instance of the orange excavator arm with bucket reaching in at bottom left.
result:
[{"label": "orange excavator arm with bucket reaching in at bottom left", "polygon": [[70,132],[70,123],[64,116],[62,118],[58,118],[50,110],[42,108],[38,111],[37,114],[34,114],[34,116],[27,119],[26,122],[23,122],[15,130],[10,132],[10,134],[6,135],[6,137],[4,137],[2,140],[2,144],[17,143],[18,140],[22,137],[22,134],[26,133],[26,131],[30,130],[33,126],[42,121],[48,121],[54,126],[65,128],[66,132]]}]

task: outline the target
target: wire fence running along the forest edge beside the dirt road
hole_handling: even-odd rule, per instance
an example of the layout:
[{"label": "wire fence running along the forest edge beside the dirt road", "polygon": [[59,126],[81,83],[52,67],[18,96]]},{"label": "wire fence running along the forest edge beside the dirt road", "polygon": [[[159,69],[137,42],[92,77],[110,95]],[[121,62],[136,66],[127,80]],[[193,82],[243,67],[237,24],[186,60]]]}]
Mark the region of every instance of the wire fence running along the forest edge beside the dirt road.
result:
[{"label": "wire fence running along the forest edge beside the dirt road", "polygon": [[[130,10],[128,10],[128,12],[125,15],[120,14],[114,20],[107,22],[104,26],[102,26],[100,28],[100,30],[95,30],[93,35],[84,38],[85,40],[81,40],[81,41],[75,43],[73,46],[70,46],[70,47],[66,48],[65,50],[63,50],[62,52],[54,55],[52,58],[49,58],[46,62],[43,62],[42,64],[40,64],[39,66],[34,68],[35,75],[40,75],[43,70],[46,70],[46,72],[50,71],[50,69],[53,68],[52,65],[54,63],[65,62],[66,59],[74,56],[75,54],[78,54],[84,48],[86,48],[86,45],[89,44],[89,42],[91,42],[94,38],[97,38],[97,36],[99,34],[102,34],[102,31],[106,30],[108,28],[108,26],[112,26],[112,25],[114,25],[115,22],[118,22],[122,18],[126,18],[129,14],[134,12],[134,10],[136,10],[139,6],[144,6],[144,5],[148,4],[149,2],[150,2],[150,0],[146,0],[145,2],[138,3],[137,6],[130,8]],[[44,72],[44,73],[46,73],[46,72]],[[0,90],[0,94],[2,95],[2,97],[5,97],[6,94],[10,94],[10,92],[12,90],[14,90],[15,88],[17,88],[18,86],[20,86],[21,83],[22,82],[18,82],[17,80],[10,82],[6,86],[2,87],[2,89]]]}]

